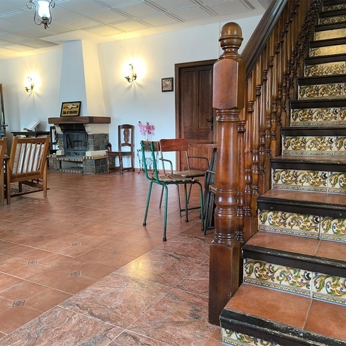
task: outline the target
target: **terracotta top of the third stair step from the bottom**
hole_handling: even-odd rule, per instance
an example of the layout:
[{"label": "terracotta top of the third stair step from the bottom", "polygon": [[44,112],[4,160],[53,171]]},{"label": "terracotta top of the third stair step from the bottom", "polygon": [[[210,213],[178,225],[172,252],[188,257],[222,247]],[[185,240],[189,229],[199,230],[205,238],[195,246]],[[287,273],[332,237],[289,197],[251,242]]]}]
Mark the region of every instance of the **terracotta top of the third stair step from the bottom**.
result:
[{"label": "terracotta top of the third stair step from the bottom", "polygon": [[346,195],[330,192],[307,192],[285,189],[271,189],[262,194],[261,197],[271,199],[286,199],[291,201],[302,201],[303,203],[334,204],[346,207]]}]

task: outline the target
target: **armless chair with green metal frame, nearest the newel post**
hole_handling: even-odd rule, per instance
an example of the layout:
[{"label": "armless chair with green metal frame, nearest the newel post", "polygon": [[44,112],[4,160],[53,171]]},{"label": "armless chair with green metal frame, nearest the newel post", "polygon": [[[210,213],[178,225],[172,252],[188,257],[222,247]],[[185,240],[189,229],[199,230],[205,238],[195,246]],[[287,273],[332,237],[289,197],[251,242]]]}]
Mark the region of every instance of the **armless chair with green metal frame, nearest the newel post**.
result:
[{"label": "armless chair with green metal frame, nearest the newel post", "polygon": [[[203,189],[199,181],[180,174],[159,174],[157,165],[156,165],[156,152],[159,150],[159,143],[157,141],[142,140],[140,142],[143,153],[143,168],[146,178],[150,181],[149,190],[147,195],[147,206],[145,207],[145,216],[143,221],[143,226],[147,225],[147,214],[149,210],[150,196],[152,194],[152,185],[158,184],[161,185],[165,191],[165,213],[163,217],[163,242],[167,240],[166,229],[167,229],[167,205],[168,205],[168,186],[176,185],[179,188],[179,185],[184,186],[185,191],[185,221],[188,222],[188,193],[187,186],[197,184],[199,185],[199,197],[201,199],[201,220],[202,220],[202,230],[203,230]],[[152,154],[152,171],[149,174],[149,167],[147,167],[147,160],[145,157],[145,152],[151,152]]]}]

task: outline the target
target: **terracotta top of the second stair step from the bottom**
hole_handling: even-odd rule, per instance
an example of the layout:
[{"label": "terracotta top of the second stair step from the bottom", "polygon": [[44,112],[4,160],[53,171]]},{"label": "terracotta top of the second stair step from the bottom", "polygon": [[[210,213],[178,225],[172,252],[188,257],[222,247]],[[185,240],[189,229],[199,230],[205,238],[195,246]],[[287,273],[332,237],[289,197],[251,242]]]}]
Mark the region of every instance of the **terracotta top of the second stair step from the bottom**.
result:
[{"label": "terracotta top of the second stair step from the bottom", "polygon": [[248,246],[284,251],[285,253],[299,251],[300,256],[316,257],[316,262],[318,259],[330,259],[340,262],[339,264],[345,262],[344,266],[346,266],[345,244],[340,242],[260,230],[246,242],[244,248],[248,248]]}]

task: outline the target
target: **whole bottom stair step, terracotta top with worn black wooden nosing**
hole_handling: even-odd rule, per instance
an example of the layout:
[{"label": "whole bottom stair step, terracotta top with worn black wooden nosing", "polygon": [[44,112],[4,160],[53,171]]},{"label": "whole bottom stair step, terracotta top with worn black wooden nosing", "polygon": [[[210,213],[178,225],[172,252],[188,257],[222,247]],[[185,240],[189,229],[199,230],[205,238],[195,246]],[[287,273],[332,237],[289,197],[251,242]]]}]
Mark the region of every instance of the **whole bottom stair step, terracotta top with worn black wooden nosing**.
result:
[{"label": "whole bottom stair step, terracotta top with worn black wooden nosing", "polygon": [[243,283],[221,312],[223,342],[254,345],[251,336],[278,345],[346,345],[345,312],[338,304]]}]

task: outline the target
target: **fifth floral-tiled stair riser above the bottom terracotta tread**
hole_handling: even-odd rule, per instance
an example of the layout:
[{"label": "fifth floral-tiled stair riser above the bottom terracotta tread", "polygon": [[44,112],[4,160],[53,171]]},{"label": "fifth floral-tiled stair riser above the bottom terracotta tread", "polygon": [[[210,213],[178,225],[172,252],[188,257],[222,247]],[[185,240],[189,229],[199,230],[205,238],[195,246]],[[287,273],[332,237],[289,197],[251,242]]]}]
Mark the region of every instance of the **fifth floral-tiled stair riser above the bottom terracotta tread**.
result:
[{"label": "fifth floral-tiled stair riser above the bottom terracotta tread", "polygon": [[309,108],[309,109],[292,109],[291,126],[307,125],[345,125],[346,108]]}]

